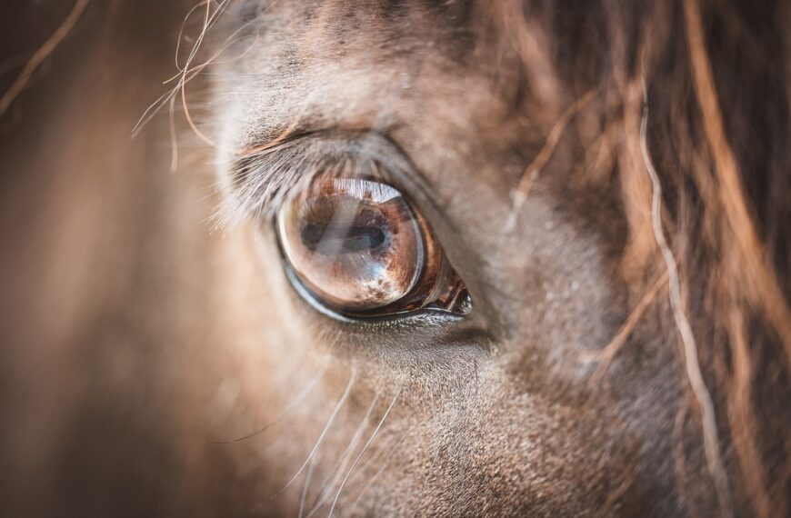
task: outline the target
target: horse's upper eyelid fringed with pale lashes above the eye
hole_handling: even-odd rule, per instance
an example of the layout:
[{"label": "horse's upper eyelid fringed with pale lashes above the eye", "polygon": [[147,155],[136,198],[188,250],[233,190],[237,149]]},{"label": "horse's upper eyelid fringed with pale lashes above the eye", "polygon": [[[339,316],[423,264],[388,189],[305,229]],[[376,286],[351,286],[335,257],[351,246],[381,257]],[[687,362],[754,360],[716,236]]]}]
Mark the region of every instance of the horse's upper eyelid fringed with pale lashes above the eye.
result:
[{"label": "horse's upper eyelid fringed with pale lashes above the eye", "polygon": [[[395,184],[432,204],[430,184],[385,135],[325,131],[295,134],[271,146],[254,146],[232,159],[229,195],[217,225],[271,218],[285,200],[322,174],[367,176]],[[436,208],[436,207],[435,207]]]}]

